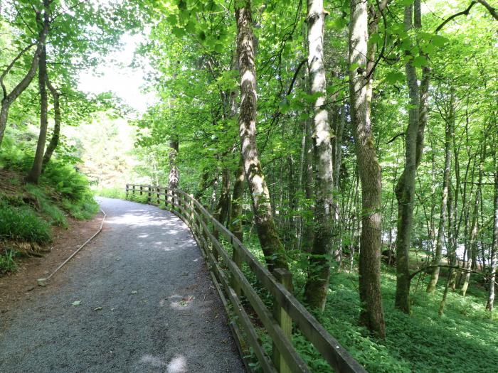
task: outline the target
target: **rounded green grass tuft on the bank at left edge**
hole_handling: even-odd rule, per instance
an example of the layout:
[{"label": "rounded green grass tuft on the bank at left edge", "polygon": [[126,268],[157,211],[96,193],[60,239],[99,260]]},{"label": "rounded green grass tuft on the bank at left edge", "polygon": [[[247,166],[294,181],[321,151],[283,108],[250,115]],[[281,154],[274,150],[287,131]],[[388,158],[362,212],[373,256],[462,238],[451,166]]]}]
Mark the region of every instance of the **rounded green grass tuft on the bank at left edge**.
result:
[{"label": "rounded green grass tuft on the bank at left edge", "polygon": [[0,240],[46,244],[51,242],[50,225],[29,207],[0,203]]}]

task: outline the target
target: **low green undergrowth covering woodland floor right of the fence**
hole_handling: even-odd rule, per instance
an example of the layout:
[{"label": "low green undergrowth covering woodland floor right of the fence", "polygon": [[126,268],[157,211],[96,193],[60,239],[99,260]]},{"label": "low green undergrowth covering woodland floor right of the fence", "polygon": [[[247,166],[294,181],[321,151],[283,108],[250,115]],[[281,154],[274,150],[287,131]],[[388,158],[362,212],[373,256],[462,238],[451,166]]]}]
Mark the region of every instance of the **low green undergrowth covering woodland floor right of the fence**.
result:
[{"label": "low green undergrowth covering woodland floor right of the fence", "polygon": [[[264,262],[257,237],[253,236],[249,241],[246,239],[245,245]],[[248,269],[244,272],[268,304],[266,289],[258,284]],[[297,265],[292,267],[292,272],[297,297],[304,303],[302,270]],[[467,293],[471,295],[462,297],[456,292],[449,293],[445,313],[440,316],[438,309],[443,296],[442,286],[429,295],[425,292],[426,283],[421,282],[418,290],[415,293],[412,291],[413,313],[406,315],[394,308],[396,273],[393,267],[383,266],[381,283],[386,319],[385,340],[358,325],[360,302],[357,273],[332,273],[327,306],[324,313],[315,315],[368,372],[468,372],[470,366],[475,372],[497,372],[498,317],[484,310],[486,294],[476,284]],[[272,343],[263,329],[260,329],[260,338],[265,350],[271,354]],[[292,342],[312,372],[332,372],[329,364],[304,335],[295,333]]]}]

